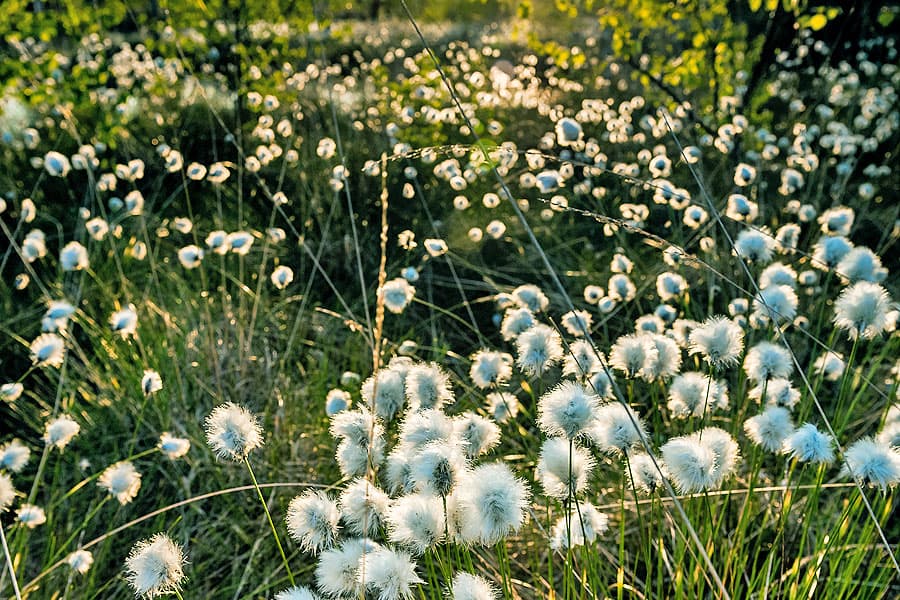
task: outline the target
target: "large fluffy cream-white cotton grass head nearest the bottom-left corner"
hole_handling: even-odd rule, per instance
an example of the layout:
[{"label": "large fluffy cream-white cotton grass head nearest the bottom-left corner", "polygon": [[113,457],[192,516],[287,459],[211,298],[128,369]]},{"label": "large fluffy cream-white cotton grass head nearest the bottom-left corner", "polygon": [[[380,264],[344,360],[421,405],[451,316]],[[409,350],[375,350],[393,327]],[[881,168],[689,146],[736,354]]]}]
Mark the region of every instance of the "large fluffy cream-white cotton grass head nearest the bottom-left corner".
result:
[{"label": "large fluffy cream-white cotton grass head nearest the bottom-left corner", "polygon": [[171,594],[184,580],[184,551],[164,533],[134,545],[125,559],[125,576],[135,594],[155,598]]}]

